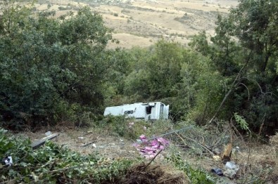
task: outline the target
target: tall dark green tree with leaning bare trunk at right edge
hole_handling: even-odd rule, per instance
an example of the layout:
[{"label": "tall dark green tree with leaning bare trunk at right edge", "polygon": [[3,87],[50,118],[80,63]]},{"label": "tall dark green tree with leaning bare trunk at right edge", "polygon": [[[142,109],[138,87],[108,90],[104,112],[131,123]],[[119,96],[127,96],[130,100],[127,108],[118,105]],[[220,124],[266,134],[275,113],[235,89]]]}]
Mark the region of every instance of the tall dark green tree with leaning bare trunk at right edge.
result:
[{"label": "tall dark green tree with leaning bare trunk at right edge", "polygon": [[277,122],[277,8],[277,1],[241,0],[218,17],[212,38],[210,57],[229,81],[220,107],[226,105],[226,118],[241,112],[254,130]]}]

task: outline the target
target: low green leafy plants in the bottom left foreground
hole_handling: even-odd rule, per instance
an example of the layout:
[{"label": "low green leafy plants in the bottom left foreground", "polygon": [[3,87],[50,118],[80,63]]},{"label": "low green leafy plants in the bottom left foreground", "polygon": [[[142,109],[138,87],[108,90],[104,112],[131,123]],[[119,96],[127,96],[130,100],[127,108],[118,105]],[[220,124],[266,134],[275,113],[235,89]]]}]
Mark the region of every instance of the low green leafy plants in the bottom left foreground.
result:
[{"label": "low green leafy plants in the bottom left foreground", "polygon": [[32,150],[30,140],[0,129],[0,157],[11,156],[13,166],[0,164],[0,182],[119,183],[132,160],[80,155],[48,142]]}]

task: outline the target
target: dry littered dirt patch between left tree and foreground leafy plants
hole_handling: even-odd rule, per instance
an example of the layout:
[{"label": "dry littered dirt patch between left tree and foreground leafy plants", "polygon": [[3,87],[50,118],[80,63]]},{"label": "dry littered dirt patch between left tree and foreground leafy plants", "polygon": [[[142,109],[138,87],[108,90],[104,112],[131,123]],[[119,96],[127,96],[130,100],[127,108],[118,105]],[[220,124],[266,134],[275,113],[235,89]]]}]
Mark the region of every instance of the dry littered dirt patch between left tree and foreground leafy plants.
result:
[{"label": "dry littered dirt patch between left tree and foreground leafy plants", "polygon": [[95,131],[94,129],[73,129],[66,127],[52,127],[51,129],[43,129],[32,133],[27,131],[20,133],[21,136],[36,141],[46,137],[46,132],[58,133],[59,136],[51,140],[53,143],[63,145],[80,152],[82,154],[99,153],[103,157],[108,158],[131,158],[138,157],[139,154],[131,140],[120,138],[106,131]]}]

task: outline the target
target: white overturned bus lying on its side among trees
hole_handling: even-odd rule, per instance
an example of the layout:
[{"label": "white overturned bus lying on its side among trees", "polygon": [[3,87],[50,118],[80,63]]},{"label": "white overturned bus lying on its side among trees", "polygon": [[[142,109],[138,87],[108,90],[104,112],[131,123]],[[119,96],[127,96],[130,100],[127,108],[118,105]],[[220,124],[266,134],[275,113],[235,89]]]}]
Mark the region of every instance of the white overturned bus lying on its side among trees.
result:
[{"label": "white overturned bus lying on its side among trees", "polygon": [[120,106],[106,107],[104,116],[111,114],[114,116],[125,115],[135,119],[157,120],[168,119],[169,105],[160,102],[153,103],[133,103]]}]

